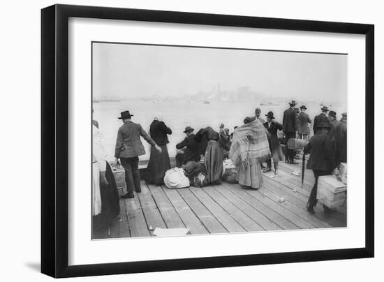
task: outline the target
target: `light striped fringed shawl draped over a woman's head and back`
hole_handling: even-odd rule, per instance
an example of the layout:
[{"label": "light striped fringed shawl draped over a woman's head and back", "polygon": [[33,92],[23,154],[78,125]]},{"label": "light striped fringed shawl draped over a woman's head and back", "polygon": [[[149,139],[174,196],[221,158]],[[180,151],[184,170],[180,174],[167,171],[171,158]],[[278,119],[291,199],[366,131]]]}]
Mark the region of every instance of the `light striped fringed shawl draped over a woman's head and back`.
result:
[{"label": "light striped fringed shawl draped over a woman's head and back", "polygon": [[256,119],[236,128],[229,156],[236,167],[256,165],[271,158],[267,131],[261,121]]}]

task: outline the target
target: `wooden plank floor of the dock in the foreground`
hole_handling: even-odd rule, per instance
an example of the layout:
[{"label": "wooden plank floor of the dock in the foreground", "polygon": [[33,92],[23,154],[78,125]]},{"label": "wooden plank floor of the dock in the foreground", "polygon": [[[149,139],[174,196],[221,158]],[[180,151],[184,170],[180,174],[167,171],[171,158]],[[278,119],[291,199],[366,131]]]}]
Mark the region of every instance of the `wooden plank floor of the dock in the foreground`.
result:
[{"label": "wooden plank floor of the dock in the foreground", "polygon": [[263,186],[244,189],[239,184],[189,187],[171,190],[142,182],[142,193],[120,200],[119,218],[108,237],[149,237],[154,228],[189,228],[189,234],[262,232],[346,227],[346,206],[324,214],[306,209],[314,183],[313,172],[305,171],[304,185],[299,165],[279,163],[279,175],[263,174]]}]

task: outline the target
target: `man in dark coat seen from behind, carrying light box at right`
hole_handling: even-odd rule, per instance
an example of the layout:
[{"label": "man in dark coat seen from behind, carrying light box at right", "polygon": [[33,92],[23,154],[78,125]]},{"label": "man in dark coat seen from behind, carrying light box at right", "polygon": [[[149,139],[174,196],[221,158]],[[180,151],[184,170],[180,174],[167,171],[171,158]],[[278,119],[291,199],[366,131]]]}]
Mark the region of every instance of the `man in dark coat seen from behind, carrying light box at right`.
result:
[{"label": "man in dark coat seen from behind, carrying light box at right", "polygon": [[309,143],[304,147],[304,154],[310,154],[307,168],[313,170],[315,175],[315,184],[307,203],[307,209],[311,214],[315,213],[313,207],[317,204],[318,177],[330,175],[335,168],[332,142],[328,135],[330,124],[322,122],[317,124],[317,126],[318,133],[313,135]]}]

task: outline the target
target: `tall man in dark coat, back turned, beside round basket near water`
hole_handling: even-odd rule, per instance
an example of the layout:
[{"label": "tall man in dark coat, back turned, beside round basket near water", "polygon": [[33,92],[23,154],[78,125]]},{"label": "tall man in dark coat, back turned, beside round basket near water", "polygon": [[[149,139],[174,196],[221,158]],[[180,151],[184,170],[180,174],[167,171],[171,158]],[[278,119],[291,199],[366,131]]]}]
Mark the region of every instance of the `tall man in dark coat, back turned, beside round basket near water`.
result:
[{"label": "tall man in dark coat, back turned, beside round basket near water", "polygon": [[283,132],[286,135],[286,163],[297,164],[295,161],[295,151],[293,149],[288,149],[288,140],[291,138],[296,138],[296,132],[299,128],[299,119],[297,119],[297,114],[295,111],[295,101],[290,101],[289,109],[284,111],[283,115]]}]

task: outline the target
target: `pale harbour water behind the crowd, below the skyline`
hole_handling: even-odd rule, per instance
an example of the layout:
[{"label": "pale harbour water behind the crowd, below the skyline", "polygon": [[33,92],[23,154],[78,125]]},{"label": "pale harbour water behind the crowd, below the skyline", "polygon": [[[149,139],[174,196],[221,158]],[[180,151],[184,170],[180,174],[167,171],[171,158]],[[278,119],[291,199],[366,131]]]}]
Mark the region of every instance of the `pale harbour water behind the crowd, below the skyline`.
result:
[{"label": "pale harbour water behind the crowd, below the skyline", "polygon": [[[313,119],[320,112],[318,103],[307,103],[307,113]],[[325,104],[327,105],[327,104]],[[175,102],[146,102],[146,101],[119,101],[119,102],[101,102],[94,103],[94,119],[99,123],[99,127],[104,136],[104,145],[108,158],[115,155],[115,142],[117,131],[122,125],[122,121],[117,119],[120,112],[129,110],[134,114],[132,120],[141,124],[145,131],[149,131],[149,125],[154,117],[158,117],[172,129],[172,135],[168,135],[170,144],[168,151],[170,156],[175,156],[175,145],[185,138],[183,133],[186,126],[195,128],[195,133],[206,126],[212,126],[218,130],[219,122],[222,122],[226,128],[233,131],[234,126],[243,124],[245,117],[253,116],[256,107],[262,111],[261,117],[265,119],[267,112],[274,112],[275,120],[282,122],[283,112],[288,105],[280,104],[278,106],[259,105],[258,103],[233,103],[233,102],[202,102],[175,101]],[[346,112],[345,106],[328,107],[337,112],[337,118],[341,117],[341,112]],[[266,120],[266,119],[265,119]],[[150,145],[142,139],[147,154],[140,156],[140,160],[149,159]]]}]

